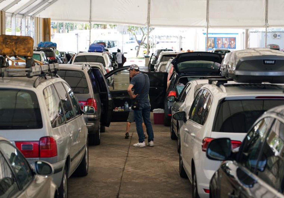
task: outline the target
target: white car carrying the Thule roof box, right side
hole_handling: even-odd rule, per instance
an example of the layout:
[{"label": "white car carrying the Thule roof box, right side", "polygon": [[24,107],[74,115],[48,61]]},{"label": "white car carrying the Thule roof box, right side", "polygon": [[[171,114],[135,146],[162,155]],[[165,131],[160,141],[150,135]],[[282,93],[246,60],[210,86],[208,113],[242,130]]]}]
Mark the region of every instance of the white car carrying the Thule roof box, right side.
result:
[{"label": "white car carrying the Thule roof box, right side", "polygon": [[[231,72],[227,74],[241,83],[229,82],[226,78],[209,79],[208,84],[196,95],[189,113],[179,111],[173,115],[174,119],[184,122],[179,130],[179,174],[191,181],[193,197],[209,197],[210,179],[221,164],[221,161],[206,158],[210,141],[215,138],[230,138],[236,151],[250,126],[262,113],[284,104],[284,85],[261,83],[263,79],[265,82],[284,82],[283,75],[281,76],[283,70],[277,69],[284,61],[283,53],[273,55],[273,50],[249,51],[250,53],[245,50],[235,51],[231,54],[233,58],[226,55],[222,62],[221,71]],[[266,60],[268,57],[270,61]],[[276,58],[275,63],[273,59]],[[247,62],[254,67],[248,68]],[[240,70],[242,68],[247,70]],[[276,69],[261,71],[260,68]],[[246,76],[248,74],[251,76]],[[253,83],[244,83],[245,81]]]}]

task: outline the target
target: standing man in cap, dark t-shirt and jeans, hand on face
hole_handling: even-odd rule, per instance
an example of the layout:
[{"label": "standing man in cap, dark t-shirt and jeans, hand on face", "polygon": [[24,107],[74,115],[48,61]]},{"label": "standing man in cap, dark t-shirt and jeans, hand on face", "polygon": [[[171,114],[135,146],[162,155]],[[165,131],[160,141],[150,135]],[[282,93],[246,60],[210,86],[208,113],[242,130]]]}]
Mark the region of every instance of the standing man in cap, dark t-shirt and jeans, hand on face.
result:
[{"label": "standing man in cap, dark t-shirt and jeans, hand on face", "polygon": [[[139,142],[133,144],[134,147],[145,147],[145,138],[142,129],[142,122],[144,120],[147,134],[148,134],[148,145],[154,146],[154,133],[152,124],[150,121],[150,101],[149,101],[149,77],[146,74],[143,74],[139,71],[139,67],[136,64],[132,64],[129,71],[130,77],[132,77],[130,84],[127,88],[127,92],[130,96],[130,99],[139,100],[140,107],[139,109],[134,110],[134,118],[136,124],[136,130],[139,137]],[[134,93],[131,89],[134,88]]]}]

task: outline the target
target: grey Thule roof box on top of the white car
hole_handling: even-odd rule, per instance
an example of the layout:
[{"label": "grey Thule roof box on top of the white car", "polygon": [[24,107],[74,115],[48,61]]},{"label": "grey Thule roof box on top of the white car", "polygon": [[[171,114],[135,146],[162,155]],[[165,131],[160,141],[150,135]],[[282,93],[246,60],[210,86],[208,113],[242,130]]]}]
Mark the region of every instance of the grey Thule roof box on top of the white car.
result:
[{"label": "grey Thule roof box on top of the white car", "polygon": [[284,53],[268,48],[251,48],[227,53],[221,74],[238,83],[284,83]]}]

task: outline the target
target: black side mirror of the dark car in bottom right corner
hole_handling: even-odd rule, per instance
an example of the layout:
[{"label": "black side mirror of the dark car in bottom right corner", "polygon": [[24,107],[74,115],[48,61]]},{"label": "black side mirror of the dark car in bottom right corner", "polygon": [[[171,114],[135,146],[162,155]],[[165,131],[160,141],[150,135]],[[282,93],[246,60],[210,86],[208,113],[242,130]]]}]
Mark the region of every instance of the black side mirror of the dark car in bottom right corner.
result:
[{"label": "black side mirror of the dark car in bottom right corner", "polygon": [[210,160],[227,160],[231,155],[231,139],[218,138],[213,139],[206,150],[206,156]]}]

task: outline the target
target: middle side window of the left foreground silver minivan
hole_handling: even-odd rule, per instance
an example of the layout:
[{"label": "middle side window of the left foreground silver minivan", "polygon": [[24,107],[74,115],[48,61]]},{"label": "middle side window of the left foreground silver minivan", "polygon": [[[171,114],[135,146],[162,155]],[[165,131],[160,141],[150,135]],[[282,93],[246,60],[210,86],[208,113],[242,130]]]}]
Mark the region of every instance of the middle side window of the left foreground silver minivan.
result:
[{"label": "middle side window of the left foreground silver minivan", "polygon": [[66,90],[64,89],[61,83],[56,83],[55,88],[58,92],[59,99],[62,103],[66,120],[72,119],[74,117],[74,111],[72,108],[72,102],[70,101]]}]

